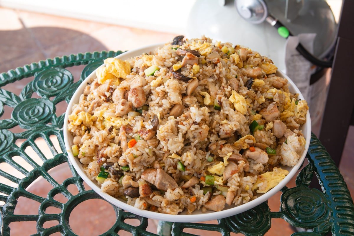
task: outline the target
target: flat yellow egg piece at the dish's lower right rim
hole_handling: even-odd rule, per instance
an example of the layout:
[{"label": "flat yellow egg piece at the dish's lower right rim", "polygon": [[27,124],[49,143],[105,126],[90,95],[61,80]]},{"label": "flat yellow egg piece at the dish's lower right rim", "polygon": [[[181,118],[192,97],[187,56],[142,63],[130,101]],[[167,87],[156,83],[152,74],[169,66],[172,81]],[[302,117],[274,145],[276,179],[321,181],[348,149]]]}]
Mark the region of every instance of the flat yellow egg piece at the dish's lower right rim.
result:
[{"label": "flat yellow egg piece at the dish's lower right rim", "polygon": [[273,171],[265,172],[261,175],[258,175],[257,181],[252,186],[252,191],[258,188],[258,184],[263,183],[262,186],[259,186],[257,193],[265,193],[270,189],[274,188],[285,176],[289,174],[289,171],[286,169],[281,169],[274,167]]}]

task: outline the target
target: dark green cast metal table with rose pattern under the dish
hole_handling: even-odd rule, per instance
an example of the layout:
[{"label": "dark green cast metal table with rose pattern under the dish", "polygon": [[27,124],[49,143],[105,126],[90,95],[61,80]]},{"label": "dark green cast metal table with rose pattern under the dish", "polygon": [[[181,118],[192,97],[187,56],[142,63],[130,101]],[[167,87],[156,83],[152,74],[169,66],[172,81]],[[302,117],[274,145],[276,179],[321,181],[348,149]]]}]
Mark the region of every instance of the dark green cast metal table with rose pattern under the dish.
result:
[{"label": "dark green cast metal table with rose pattern under the dish", "polygon": [[[0,175],[15,183],[16,187],[0,183],[0,201],[3,217],[0,218],[3,225],[3,235],[11,234],[9,224],[17,221],[36,221],[37,233],[34,235],[51,235],[60,232],[62,235],[76,235],[69,226],[69,215],[80,202],[92,198],[100,198],[93,190],[85,190],[82,179],[70,166],[73,177],[59,184],[48,170],[67,162],[67,154],[63,142],[64,114],[56,116],[56,105],[59,102],[69,102],[74,91],[93,70],[103,63],[107,57],[115,57],[121,51],[103,51],[64,57],[47,59],[39,63],[32,63],[24,67],[10,70],[0,74],[0,88],[14,83],[17,80],[34,76],[34,79],[25,85],[20,94],[14,94],[0,89],[0,116],[4,114],[4,106],[11,107],[10,119],[0,120],[0,163],[8,165],[21,172],[25,177],[17,178],[0,169]],[[87,65],[86,65],[87,64]],[[78,82],[68,67],[86,65],[82,70]],[[35,95],[38,96],[35,96]],[[19,126],[22,132],[11,132],[12,128]],[[58,138],[61,152],[54,148],[50,136]],[[52,159],[47,159],[42,152],[42,147],[34,141],[43,138],[53,154]],[[20,146],[16,140],[24,140]],[[42,165],[34,161],[25,149],[31,147],[39,158]],[[19,165],[13,157],[20,156],[33,167],[27,171]],[[338,168],[335,166],[328,152],[319,140],[312,134],[307,159],[309,161],[296,178],[296,187],[284,187],[281,195],[281,206],[278,212],[271,212],[267,202],[232,217],[219,219],[217,224],[203,223],[169,223],[160,222],[162,227],[158,230],[159,235],[193,235],[183,232],[185,228],[218,231],[223,236],[229,236],[230,232],[245,235],[264,235],[271,226],[272,218],[282,218],[292,226],[313,229],[313,232],[295,232],[292,236],[315,236],[326,235],[354,235],[354,207],[349,190]],[[310,189],[308,186],[316,174],[322,187],[322,191]],[[28,186],[35,179],[43,177],[52,186],[46,197],[41,197],[27,191]],[[79,193],[73,195],[68,191],[68,185],[77,186]],[[68,201],[61,203],[53,197],[63,194]],[[38,214],[17,215],[14,213],[18,198],[26,197],[40,203]],[[60,209],[58,214],[48,214],[48,207]],[[155,235],[146,231],[148,220],[144,217],[124,212],[114,207],[116,213],[115,224],[102,235],[117,235],[118,231],[125,230],[132,235]],[[124,222],[125,219],[138,219],[140,224],[132,226]],[[50,228],[43,225],[46,221],[57,220],[59,224]]]}]

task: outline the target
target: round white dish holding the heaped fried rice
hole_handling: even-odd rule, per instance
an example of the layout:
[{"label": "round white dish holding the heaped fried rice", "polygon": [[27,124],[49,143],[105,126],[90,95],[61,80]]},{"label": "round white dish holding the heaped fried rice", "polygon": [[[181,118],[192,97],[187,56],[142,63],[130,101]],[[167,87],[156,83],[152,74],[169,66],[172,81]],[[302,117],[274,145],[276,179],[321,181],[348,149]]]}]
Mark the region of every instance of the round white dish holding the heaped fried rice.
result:
[{"label": "round white dish holding the heaped fried rice", "polygon": [[[138,48],[136,50],[132,50],[129,52],[125,52],[120,54],[119,56],[116,56],[116,58],[120,58],[122,60],[138,56],[144,52],[150,52],[155,50],[157,47],[161,47],[163,44],[155,44],[155,45],[150,45],[150,46],[145,46],[142,48]],[[103,65],[102,65],[103,66]],[[286,78],[289,81],[289,89],[291,92],[295,92],[299,94],[300,99],[304,99],[301,92],[299,89],[295,86],[295,84],[287,77],[284,73],[281,71],[277,71],[276,74],[280,77]],[[113,205],[120,207],[126,211],[129,211],[131,213],[141,215],[143,217],[147,218],[152,218],[152,219],[157,219],[157,220],[164,220],[164,221],[171,221],[171,222],[197,222],[197,221],[206,221],[206,220],[214,220],[214,219],[221,219],[225,217],[229,217],[231,215],[239,214],[241,212],[247,211],[262,202],[268,200],[271,196],[276,194],[276,192],[280,191],[288,182],[289,180],[296,174],[298,169],[300,168],[302,162],[305,159],[307,150],[310,145],[310,138],[311,138],[311,119],[310,119],[310,114],[307,112],[306,115],[306,123],[302,126],[301,130],[302,133],[304,134],[304,137],[306,139],[306,147],[305,150],[299,159],[298,163],[294,167],[284,167],[284,169],[287,169],[289,171],[289,174],[278,184],[276,185],[273,189],[269,190],[265,194],[257,194],[257,198],[247,202],[241,206],[234,206],[230,207],[226,205],[226,207],[220,211],[220,212],[213,212],[213,211],[207,211],[205,213],[202,213],[200,210],[194,211],[192,214],[188,215],[187,213],[182,212],[181,214],[178,215],[170,215],[170,214],[164,214],[164,213],[157,213],[157,212],[152,212],[152,211],[147,211],[147,210],[141,210],[136,207],[133,207],[131,205],[128,205],[125,203],[123,200],[112,197],[105,192],[101,192],[101,189],[95,181],[90,180],[86,173],[84,172],[84,168],[82,168],[82,165],[77,157],[74,157],[72,154],[71,146],[73,145],[73,136],[69,133],[68,131],[68,116],[69,114],[72,113],[72,107],[73,104],[79,102],[80,95],[83,93],[84,88],[91,79],[96,78],[96,70],[93,71],[87,78],[82,82],[82,84],[78,87],[78,89],[75,91],[72,99],[69,102],[68,108],[65,113],[65,120],[64,120],[64,142],[65,142],[65,148],[67,149],[68,152],[68,157],[71,165],[74,166],[76,171],[79,173],[81,178],[95,191],[97,192],[98,195],[103,197],[105,200],[108,202],[112,203]],[[283,168],[283,167],[282,167]]]}]

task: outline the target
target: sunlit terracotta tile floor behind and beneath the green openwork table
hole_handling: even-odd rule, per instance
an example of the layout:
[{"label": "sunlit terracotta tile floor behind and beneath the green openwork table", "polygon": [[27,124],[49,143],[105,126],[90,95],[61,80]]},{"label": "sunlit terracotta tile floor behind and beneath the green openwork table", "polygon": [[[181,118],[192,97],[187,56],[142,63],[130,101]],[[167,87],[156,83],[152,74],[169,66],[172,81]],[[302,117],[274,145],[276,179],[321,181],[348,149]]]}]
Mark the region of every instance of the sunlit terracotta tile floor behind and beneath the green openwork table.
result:
[{"label": "sunlit terracotta tile floor behind and beneath the green openwork table", "polygon": [[[63,56],[72,53],[87,52],[87,51],[102,51],[102,50],[130,50],[136,47],[153,44],[155,42],[164,42],[172,39],[174,34],[154,32],[142,29],[133,29],[121,27],[118,25],[109,25],[103,23],[81,21],[78,19],[48,16],[39,13],[11,10],[0,8],[0,73],[9,69],[23,66],[31,62],[38,62],[46,58]],[[83,67],[76,67],[71,70],[74,77],[78,78]],[[5,86],[5,89],[15,93],[19,93],[22,87],[33,78],[21,80]],[[66,109],[66,103],[58,105],[57,114],[62,114]],[[11,110],[6,110],[1,117],[6,119],[10,117]],[[21,132],[20,129],[14,132]],[[36,142],[43,143],[41,139]],[[351,167],[352,156],[354,154],[354,128],[349,129],[347,142],[344,148],[342,163],[340,165],[341,173],[348,184],[348,188],[352,195],[354,194],[354,172]],[[17,145],[21,144],[18,140]],[[49,152],[50,153],[50,152]],[[38,159],[32,151],[33,158]],[[50,155],[48,156],[50,158]],[[18,160],[23,165],[23,160]],[[38,161],[39,162],[39,161]],[[1,168],[10,168],[0,165]],[[27,166],[25,168],[30,169]],[[70,172],[66,163],[51,170],[51,175],[59,183],[70,177]],[[15,174],[16,175],[16,174]],[[19,175],[21,177],[21,175]],[[41,184],[29,186],[28,191],[46,196],[52,186],[44,179],[38,180]],[[0,182],[6,183],[4,178],[0,178]],[[11,183],[7,183],[12,185]],[[295,179],[287,185],[289,187],[295,185]],[[75,194],[77,189],[72,188],[70,191]],[[270,198],[268,203],[272,211],[279,209],[280,193]],[[64,196],[58,196],[58,201],[65,201]],[[18,201],[15,213],[17,214],[37,214],[39,204],[20,198]],[[88,206],[94,206],[90,211],[87,211]],[[58,209],[48,209],[48,213],[57,213]],[[104,214],[105,219],[102,222],[102,217],[98,218],[97,214]],[[82,215],[90,215],[90,217],[82,218]],[[93,236],[105,232],[115,221],[113,208],[102,200],[89,200],[77,206],[69,218],[69,223],[74,232],[78,235]],[[211,221],[207,223],[215,223]],[[127,223],[136,225],[136,220],[127,221]],[[45,228],[57,224],[57,222],[48,222]],[[85,227],[82,227],[85,225]],[[272,229],[266,234],[269,236],[290,235],[293,230],[282,219],[274,219],[272,221]],[[156,232],[157,221],[149,220],[148,231]],[[36,232],[35,223],[32,221],[24,223],[11,223],[11,235],[31,235]],[[24,234],[24,229],[26,233]],[[282,230],[279,230],[282,229]],[[205,232],[188,229],[185,232],[196,235],[204,235]],[[131,235],[128,232],[120,232],[120,235]],[[218,232],[210,232],[208,235],[221,235]],[[236,234],[232,234],[236,235]]]}]

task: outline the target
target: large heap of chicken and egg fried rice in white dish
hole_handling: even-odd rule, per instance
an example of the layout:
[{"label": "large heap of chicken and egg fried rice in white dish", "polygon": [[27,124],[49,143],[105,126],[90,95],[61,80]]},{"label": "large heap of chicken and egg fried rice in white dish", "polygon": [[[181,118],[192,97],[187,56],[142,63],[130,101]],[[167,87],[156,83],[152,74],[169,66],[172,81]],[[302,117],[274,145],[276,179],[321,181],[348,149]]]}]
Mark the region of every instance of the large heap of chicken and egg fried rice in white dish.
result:
[{"label": "large heap of chicken and egg fried rice in white dish", "polygon": [[[210,38],[107,58],[73,105],[73,153],[103,192],[150,211],[221,211],[267,192],[305,147],[307,102],[272,60]],[[75,153],[76,152],[76,153]]]}]

